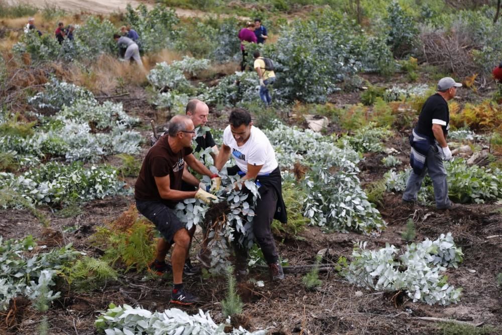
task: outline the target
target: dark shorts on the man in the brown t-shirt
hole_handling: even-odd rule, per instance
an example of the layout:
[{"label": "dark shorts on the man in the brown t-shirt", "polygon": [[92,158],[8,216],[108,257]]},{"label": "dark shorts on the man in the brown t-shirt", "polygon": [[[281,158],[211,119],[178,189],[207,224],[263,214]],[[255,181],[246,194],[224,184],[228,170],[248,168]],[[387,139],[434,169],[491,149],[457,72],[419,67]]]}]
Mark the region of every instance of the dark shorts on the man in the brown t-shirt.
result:
[{"label": "dark shorts on the man in the brown t-shirt", "polygon": [[185,228],[185,224],[180,221],[174,211],[161,201],[136,199],[136,208],[153,222],[164,240],[169,244],[174,243],[174,234]]}]

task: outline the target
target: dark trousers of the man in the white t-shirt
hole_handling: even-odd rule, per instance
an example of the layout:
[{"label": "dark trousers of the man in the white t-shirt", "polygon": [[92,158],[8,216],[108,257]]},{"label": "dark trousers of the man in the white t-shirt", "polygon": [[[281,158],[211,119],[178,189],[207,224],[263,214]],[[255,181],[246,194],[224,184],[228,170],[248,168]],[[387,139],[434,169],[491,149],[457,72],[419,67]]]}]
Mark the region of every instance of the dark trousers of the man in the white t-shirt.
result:
[{"label": "dark trousers of the man in the white t-shirt", "polygon": [[[255,234],[258,245],[262,249],[267,264],[273,264],[279,260],[276,243],[270,227],[274,220],[276,206],[277,193],[273,188],[269,188],[267,192],[262,194],[262,197],[258,199],[255,207],[256,215],[253,219],[253,233]],[[238,238],[235,239],[235,244],[238,244],[237,240]],[[247,250],[237,245],[234,245],[234,248],[237,262],[245,261],[247,258]]]}]

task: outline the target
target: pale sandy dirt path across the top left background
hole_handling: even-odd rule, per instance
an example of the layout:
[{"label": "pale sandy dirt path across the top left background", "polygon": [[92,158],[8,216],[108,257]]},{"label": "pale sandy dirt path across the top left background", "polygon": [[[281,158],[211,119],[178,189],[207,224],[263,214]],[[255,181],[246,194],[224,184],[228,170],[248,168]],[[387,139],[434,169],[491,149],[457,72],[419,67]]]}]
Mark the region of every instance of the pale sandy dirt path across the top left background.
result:
[{"label": "pale sandy dirt path across the top left background", "polygon": [[[8,4],[16,5],[16,4],[30,4],[35,7],[44,8],[46,6],[56,6],[68,12],[89,12],[89,13],[97,13],[97,14],[111,14],[113,12],[122,12],[126,10],[127,4],[131,4],[133,8],[138,7],[140,4],[145,4],[148,9],[152,9],[153,5],[147,2],[134,1],[134,0],[7,0]],[[196,10],[185,10],[185,9],[176,9],[176,14],[179,17],[184,18],[203,18],[207,17],[207,13],[203,11]],[[229,15],[221,14],[221,17],[229,17]],[[238,17],[240,20],[249,20],[246,17]]]}]

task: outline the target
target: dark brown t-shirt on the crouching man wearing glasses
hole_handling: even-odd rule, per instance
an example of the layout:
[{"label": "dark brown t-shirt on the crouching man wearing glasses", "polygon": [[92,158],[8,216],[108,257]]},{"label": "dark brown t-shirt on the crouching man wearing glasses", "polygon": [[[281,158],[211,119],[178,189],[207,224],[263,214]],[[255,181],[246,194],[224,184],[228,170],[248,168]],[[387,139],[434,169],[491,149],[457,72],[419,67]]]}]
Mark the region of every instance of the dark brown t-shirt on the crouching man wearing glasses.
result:
[{"label": "dark brown t-shirt on the crouching man wearing glasses", "polygon": [[162,136],[150,148],[143,160],[140,175],[136,179],[134,196],[139,200],[160,200],[173,208],[177,201],[162,199],[154,177],[169,175],[171,189],[181,190],[184,157],[192,153],[192,148],[183,148],[174,153],[168,142],[169,136]]}]

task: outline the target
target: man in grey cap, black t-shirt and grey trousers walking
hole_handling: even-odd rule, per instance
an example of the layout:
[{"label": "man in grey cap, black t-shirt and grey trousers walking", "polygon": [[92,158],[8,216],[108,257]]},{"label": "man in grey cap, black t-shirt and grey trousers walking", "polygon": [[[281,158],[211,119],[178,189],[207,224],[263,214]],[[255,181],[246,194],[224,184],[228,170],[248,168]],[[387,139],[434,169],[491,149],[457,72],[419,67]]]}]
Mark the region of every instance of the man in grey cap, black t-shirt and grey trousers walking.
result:
[{"label": "man in grey cap, black t-shirt and grey trousers walking", "polygon": [[406,184],[403,201],[414,203],[422,186],[425,174],[429,173],[434,186],[434,197],[438,209],[455,209],[459,205],[448,198],[446,169],[443,161],[451,160],[451,151],[446,143],[450,128],[450,113],[447,101],[455,97],[457,87],[462,84],[445,77],[438,82],[438,91],[424,103],[418,124],[410,135],[410,165],[413,172]]}]

